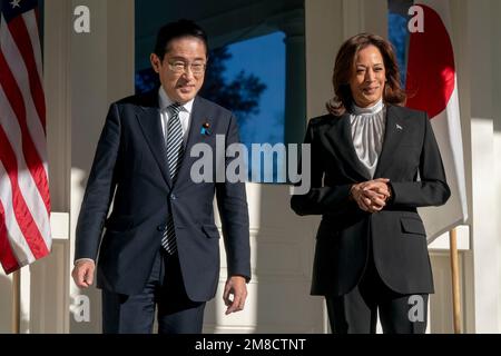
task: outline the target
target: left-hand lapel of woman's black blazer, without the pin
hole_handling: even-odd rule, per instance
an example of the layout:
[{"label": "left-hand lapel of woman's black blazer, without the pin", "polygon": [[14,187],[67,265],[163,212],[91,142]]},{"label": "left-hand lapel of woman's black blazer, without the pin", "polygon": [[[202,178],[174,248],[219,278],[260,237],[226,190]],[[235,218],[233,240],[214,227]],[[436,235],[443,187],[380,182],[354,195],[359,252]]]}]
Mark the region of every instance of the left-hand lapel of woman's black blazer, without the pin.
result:
[{"label": "left-hand lapel of woman's black blazer, without the pin", "polygon": [[346,167],[350,167],[353,175],[352,178],[355,181],[369,180],[369,172],[356,156],[355,147],[353,146],[352,131],[350,127],[350,113],[345,112],[326,132],[325,137],[328,141],[327,149],[335,157],[342,158],[346,162]]}]

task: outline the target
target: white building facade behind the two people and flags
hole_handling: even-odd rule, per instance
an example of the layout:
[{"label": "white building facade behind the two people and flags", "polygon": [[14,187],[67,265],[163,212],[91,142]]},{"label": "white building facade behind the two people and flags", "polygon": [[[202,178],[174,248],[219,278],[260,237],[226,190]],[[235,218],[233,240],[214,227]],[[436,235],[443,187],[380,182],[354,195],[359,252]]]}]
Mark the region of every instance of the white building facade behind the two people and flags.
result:
[{"label": "white building facade behind the two people and flags", "polygon": [[[298,135],[289,120],[305,125],[307,118],[325,113],[340,44],[363,31],[387,33],[386,0],[193,2],[190,12],[171,4],[173,14],[166,14],[165,21],[190,17],[215,44],[271,29],[285,33],[286,138]],[[501,23],[497,18],[501,3],[449,2],[469,200],[469,219],[458,229],[462,328],[465,333],[500,333],[501,237],[497,231],[501,229],[501,164],[497,157],[501,157],[501,91],[497,83],[501,82]],[[148,53],[156,34],[156,28],[145,27],[138,36],[136,23],[156,9],[156,1],[140,3],[145,9],[138,9],[132,0],[43,1],[55,240],[48,258],[21,270],[21,333],[100,333],[100,291],[78,290],[70,277],[75,227],[108,106],[134,93],[138,68],[134,53]],[[90,32],[75,30],[79,6],[89,9]],[[206,308],[204,332],[328,332],[323,299],[310,296],[318,218],[299,219],[293,214],[287,185],[248,182],[247,195],[253,258],[248,303],[244,312],[224,316],[219,288]],[[451,333],[448,236],[433,241],[430,251],[435,294],[430,303],[429,332]],[[226,278],[224,261],[222,256],[220,287]],[[0,332],[10,333],[11,277],[0,275]]]}]

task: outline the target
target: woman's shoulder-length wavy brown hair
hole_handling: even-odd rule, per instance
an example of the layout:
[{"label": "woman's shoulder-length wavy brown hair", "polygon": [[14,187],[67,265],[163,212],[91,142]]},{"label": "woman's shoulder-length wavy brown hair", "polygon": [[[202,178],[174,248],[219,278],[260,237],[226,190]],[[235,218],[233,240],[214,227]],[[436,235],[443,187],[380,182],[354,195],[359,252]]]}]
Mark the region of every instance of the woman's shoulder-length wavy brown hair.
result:
[{"label": "woman's shoulder-length wavy brown hair", "polygon": [[332,77],[335,96],[326,103],[327,110],[332,115],[343,115],[352,107],[353,96],[350,89],[350,78],[354,73],[354,61],[358,51],[371,44],[380,50],[386,71],[383,101],[396,106],[405,103],[406,95],[400,86],[399,65],[393,46],[380,36],[360,33],[346,40],[337,52]]}]

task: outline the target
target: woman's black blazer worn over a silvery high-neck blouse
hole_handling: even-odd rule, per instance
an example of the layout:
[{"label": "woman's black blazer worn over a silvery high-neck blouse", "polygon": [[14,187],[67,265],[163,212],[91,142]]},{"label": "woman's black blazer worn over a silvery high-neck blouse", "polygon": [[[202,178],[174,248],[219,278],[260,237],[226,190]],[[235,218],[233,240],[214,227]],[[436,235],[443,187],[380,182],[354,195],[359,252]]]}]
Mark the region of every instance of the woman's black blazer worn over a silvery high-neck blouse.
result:
[{"label": "woman's black blazer worn over a silvery high-neck blouse", "polygon": [[353,146],[350,115],[312,119],[305,142],[312,149],[312,188],[293,196],[291,206],[298,215],[322,215],[312,294],[341,296],[354,288],[367,263],[370,239],[375,266],[390,288],[433,293],[426,234],[416,208],[442,205],[451,192],[426,113],[387,106],[374,179],[391,179],[393,198],[375,214],[348,199],[351,185],[371,180]]}]

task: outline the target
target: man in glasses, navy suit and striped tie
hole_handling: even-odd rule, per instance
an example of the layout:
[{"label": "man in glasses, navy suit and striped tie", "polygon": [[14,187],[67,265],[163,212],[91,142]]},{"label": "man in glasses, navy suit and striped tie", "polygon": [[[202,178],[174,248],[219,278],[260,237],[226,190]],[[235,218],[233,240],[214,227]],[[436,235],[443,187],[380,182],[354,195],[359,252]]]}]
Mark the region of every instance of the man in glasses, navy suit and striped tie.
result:
[{"label": "man in glasses, navy suit and striped tie", "polygon": [[[216,135],[238,142],[237,125],[197,96],[207,63],[197,24],[163,27],[150,60],[160,88],[109,109],[77,224],[72,276],[80,288],[90,286],[99,253],[104,333],[151,333],[156,306],[159,333],[202,333],[219,279],[214,196],[227,256],[226,314],[242,310],[247,296],[248,211],[244,182],[194,182],[190,149],[215,149]],[[213,178],[216,168],[225,169],[214,162]]]}]

